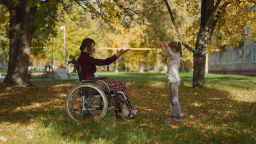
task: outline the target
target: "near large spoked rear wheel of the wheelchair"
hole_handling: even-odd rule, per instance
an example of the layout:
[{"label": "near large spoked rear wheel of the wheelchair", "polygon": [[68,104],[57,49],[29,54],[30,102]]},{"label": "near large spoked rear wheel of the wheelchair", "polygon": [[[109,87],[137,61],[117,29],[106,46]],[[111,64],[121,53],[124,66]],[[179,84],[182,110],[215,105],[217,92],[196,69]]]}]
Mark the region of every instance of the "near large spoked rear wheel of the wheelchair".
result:
[{"label": "near large spoked rear wheel of the wheelchair", "polygon": [[73,87],[66,99],[65,110],[73,121],[92,119],[100,121],[108,110],[106,94],[92,83],[80,83]]}]

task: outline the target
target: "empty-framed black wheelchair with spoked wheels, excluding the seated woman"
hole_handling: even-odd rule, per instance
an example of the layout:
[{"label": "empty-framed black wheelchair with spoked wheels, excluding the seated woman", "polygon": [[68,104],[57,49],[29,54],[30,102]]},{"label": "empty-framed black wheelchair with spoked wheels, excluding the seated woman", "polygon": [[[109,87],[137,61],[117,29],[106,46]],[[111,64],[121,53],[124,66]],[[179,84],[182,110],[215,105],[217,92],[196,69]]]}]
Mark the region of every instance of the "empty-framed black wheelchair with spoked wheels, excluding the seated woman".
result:
[{"label": "empty-framed black wheelchair with spoked wheels, excluding the seated woman", "polygon": [[[74,86],[65,99],[65,110],[67,116],[72,121],[84,121],[89,119],[92,121],[100,121],[106,116],[109,109],[116,109],[115,115],[118,118],[118,112],[121,112],[120,103],[125,103],[130,114],[129,118],[134,118],[132,106],[123,92],[110,91],[106,83],[108,77],[95,77],[84,79],[83,70],[78,61],[69,61],[68,64],[74,64],[77,68],[80,83]],[[124,98],[120,98],[119,94],[123,94]],[[117,100],[113,104],[113,98]]]}]

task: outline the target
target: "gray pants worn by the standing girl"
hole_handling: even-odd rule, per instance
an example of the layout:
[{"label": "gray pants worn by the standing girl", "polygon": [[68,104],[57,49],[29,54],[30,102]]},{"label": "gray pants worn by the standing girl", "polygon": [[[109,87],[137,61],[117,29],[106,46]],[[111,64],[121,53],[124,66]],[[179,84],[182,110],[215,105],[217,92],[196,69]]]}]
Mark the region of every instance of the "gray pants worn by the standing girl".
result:
[{"label": "gray pants worn by the standing girl", "polygon": [[179,85],[181,81],[170,83],[169,87],[169,101],[171,108],[171,116],[174,116],[176,113],[177,117],[181,117],[181,105],[179,105]]}]

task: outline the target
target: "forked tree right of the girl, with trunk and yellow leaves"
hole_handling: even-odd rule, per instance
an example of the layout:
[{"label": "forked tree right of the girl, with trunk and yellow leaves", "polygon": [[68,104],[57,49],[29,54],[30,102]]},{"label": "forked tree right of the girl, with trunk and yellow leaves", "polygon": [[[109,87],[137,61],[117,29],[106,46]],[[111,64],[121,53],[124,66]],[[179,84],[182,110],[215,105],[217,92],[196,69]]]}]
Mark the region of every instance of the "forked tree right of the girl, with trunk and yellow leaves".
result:
[{"label": "forked tree right of the girl, with trunk and yellow leaves", "polygon": [[[251,9],[255,7],[255,2],[251,0],[248,0],[248,1],[202,0],[200,5],[199,1],[189,1],[189,2],[184,1],[183,3],[189,5],[187,6],[187,10],[190,10],[191,15],[195,16],[196,18],[197,13],[200,14],[199,27],[197,25],[194,25],[194,27],[196,27],[195,29],[199,29],[196,32],[197,37],[196,37],[194,49],[185,42],[183,35],[179,31],[177,22],[174,19],[174,15],[168,1],[164,0],[164,2],[167,6],[168,13],[171,16],[172,23],[176,29],[179,39],[182,41],[182,44],[189,51],[193,52],[193,57],[194,57],[193,87],[204,87],[207,48],[209,48],[211,44],[211,40],[213,38],[214,30],[216,30],[217,23],[220,23],[220,20],[222,20],[225,15],[232,15],[232,16],[235,16],[235,18],[243,17],[242,19],[236,19],[233,24],[230,24],[231,26],[234,26],[234,28],[238,27],[239,29],[238,33],[237,33],[237,29],[231,29],[231,27],[229,27],[230,31],[234,31],[235,33],[237,33],[236,35],[239,35],[240,37],[235,37],[234,38],[235,40],[232,40],[232,41],[226,41],[225,45],[236,44],[235,43],[236,41],[239,41],[242,39],[240,29],[242,29],[243,31],[243,27],[245,27],[245,24],[252,23],[252,19],[254,19],[254,12],[253,12],[254,10],[251,11]],[[181,3],[181,1],[178,1],[178,2]],[[195,13],[192,13],[193,9]],[[200,12],[197,11],[196,9],[199,9]],[[232,21],[230,19],[229,20],[223,19],[223,20],[224,22]],[[222,27],[223,26],[220,26],[219,28],[222,28]],[[189,29],[189,31],[191,31],[191,29]],[[252,31],[255,31],[255,30],[252,30]],[[219,31],[217,32],[217,35],[219,35]],[[221,36],[231,37],[230,35],[221,35]],[[255,37],[255,34],[253,36]]]}]

